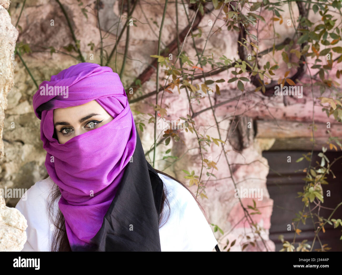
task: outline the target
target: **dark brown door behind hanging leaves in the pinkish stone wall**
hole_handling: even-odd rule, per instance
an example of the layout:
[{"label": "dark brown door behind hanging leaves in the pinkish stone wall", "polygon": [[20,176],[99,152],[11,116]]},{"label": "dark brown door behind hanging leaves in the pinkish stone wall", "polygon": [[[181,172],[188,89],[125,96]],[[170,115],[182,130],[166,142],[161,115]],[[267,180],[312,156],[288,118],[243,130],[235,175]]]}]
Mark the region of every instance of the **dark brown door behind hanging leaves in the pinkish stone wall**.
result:
[{"label": "dark brown door behind hanging leaves in the pinkish stone wall", "polygon": [[[263,156],[268,160],[268,165],[270,167],[269,174],[267,176],[267,189],[270,197],[274,200],[273,213],[271,217],[271,229],[269,230],[269,238],[275,243],[276,251],[282,248],[282,243],[278,239],[279,235],[284,235],[284,239],[288,242],[293,242],[294,230],[292,225],[292,219],[296,218],[295,213],[298,213],[303,209],[304,203],[301,198],[296,198],[298,196],[297,192],[303,192],[304,180],[306,173],[298,171],[308,167],[308,161],[305,159],[301,162],[296,163],[302,154],[307,154],[307,151],[264,151]],[[313,153],[312,166],[321,162],[321,157],[318,156],[319,152]],[[341,152],[326,152],[325,155],[328,157],[329,161],[332,162],[334,159],[341,156]],[[288,156],[291,156],[291,163],[287,162]],[[322,184],[324,203],[321,204],[324,207],[335,208],[340,202],[342,202],[342,159],[339,159],[331,167],[336,178],[333,178],[332,174],[327,175],[326,181],[329,184]],[[278,175],[278,172],[280,175]],[[330,197],[327,196],[327,190],[330,190]],[[310,204],[311,209],[315,205]],[[317,214],[317,209],[313,211]],[[304,211],[308,211],[306,207]],[[328,218],[332,210],[320,208],[319,216]],[[333,219],[342,219],[342,206],[340,206],[336,212],[334,212]],[[318,221],[317,217],[314,221]],[[291,231],[288,231],[288,224],[291,224]],[[296,225],[296,222],[294,222]],[[316,228],[318,223],[315,224]],[[302,230],[300,235],[297,234],[295,242],[302,242],[302,240],[307,239],[308,244],[312,245],[314,239],[314,225],[311,218],[306,219],[306,224],[301,221],[298,224],[298,228]],[[334,229],[333,225],[328,223],[324,226],[325,233],[322,230],[319,232],[318,236],[322,244],[328,244],[327,247],[331,247],[329,251],[342,251],[342,240],[340,237],[342,235],[341,225]],[[298,244],[295,245],[295,248]],[[320,248],[318,239],[316,238],[314,249]]]}]

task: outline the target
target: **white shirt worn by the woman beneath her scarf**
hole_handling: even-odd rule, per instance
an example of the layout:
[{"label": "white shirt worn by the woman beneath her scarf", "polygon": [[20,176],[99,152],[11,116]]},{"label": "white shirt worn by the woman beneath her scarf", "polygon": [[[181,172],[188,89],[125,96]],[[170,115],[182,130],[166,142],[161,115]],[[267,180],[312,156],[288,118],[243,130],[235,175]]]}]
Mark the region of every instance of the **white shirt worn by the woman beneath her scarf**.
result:
[{"label": "white shirt worn by the woman beneath her scarf", "polygon": [[[218,243],[194,197],[179,182],[159,174],[166,188],[169,208],[159,228],[161,251],[212,251]],[[48,196],[55,183],[50,177],[37,181],[19,200],[17,208],[27,220],[27,241],[22,251],[50,251],[50,238],[55,226],[46,209]],[[26,198],[26,200],[23,200]],[[58,209],[57,199],[54,209]],[[54,216],[56,212],[54,212]]]}]

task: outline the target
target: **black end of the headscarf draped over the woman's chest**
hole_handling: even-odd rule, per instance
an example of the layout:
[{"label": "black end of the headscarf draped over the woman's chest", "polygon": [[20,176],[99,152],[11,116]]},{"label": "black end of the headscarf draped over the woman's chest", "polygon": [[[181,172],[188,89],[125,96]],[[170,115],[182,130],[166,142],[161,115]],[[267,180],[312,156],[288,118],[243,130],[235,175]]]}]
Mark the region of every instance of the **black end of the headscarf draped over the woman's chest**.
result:
[{"label": "black end of the headscarf draped over the woman's chest", "polygon": [[[147,162],[136,130],[133,162],[129,162],[100,230],[87,247],[72,251],[161,251],[159,215],[163,182]],[[89,221],[91,222],[91,220]]]}]

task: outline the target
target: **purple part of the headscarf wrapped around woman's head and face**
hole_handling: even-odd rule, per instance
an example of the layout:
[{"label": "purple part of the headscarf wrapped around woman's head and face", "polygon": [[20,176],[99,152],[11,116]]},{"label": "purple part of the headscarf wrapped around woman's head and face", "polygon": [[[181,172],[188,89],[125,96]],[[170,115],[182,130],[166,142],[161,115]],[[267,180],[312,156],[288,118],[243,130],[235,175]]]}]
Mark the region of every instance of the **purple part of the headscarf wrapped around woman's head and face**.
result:
[{"label": "purple part of the headscarf wrapped around woman's head and face", "polygon": [[[52,99],[52,100],[51,100]],[[51,100],[51,110],[37,108]],[[96,100],[114,119],[71,138],[53,138],[53,109]],[[47,151],[45,167],[61,191],[58,206],[70,246],[85,246],[101,228],[136,145],[136,129],[120,77],[109,67],[80,63],[43,81],[33,96],[41,119],[40,137]],[[89,110],[91,113],[91,110]]]}]

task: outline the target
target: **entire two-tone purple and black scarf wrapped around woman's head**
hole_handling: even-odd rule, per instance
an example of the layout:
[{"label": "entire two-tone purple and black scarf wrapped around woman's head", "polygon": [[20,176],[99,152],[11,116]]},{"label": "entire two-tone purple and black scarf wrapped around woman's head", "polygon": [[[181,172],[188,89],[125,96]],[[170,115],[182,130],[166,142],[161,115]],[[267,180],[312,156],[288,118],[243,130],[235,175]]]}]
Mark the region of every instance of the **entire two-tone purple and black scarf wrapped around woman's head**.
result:
[{"label": "entire two-tone purple and black scarf wrapped around woman's head", "polygon": [[[92,100],[114,119],[60,144],[53,137],[53,109]],[[49,110],[37,110],[48,101]],[[71,66],[39,85],[33,107],[41,119],[45,167],[61,191],[58,206],[71,250],[160,251],[163,184],[145,159],[119,75],[93,63]]]}]

